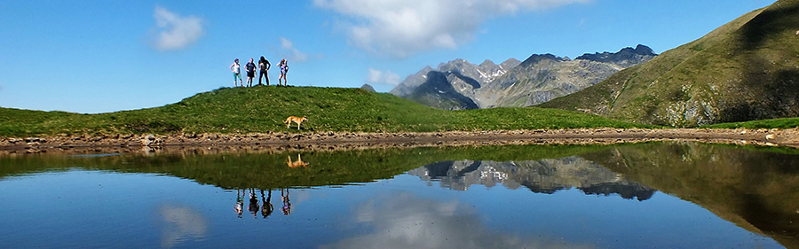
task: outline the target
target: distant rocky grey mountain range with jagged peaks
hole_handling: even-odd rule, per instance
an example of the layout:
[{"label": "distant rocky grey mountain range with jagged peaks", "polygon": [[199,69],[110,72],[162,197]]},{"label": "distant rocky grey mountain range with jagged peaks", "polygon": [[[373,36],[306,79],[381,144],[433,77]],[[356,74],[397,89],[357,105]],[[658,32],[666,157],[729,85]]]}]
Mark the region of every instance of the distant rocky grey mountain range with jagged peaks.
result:
[{"label": "distant rocky grey mountain range with jagged peaks", "polygon": [[391,93],[423,105],[460,110],[536,105],[605,80],[629,66],[657,56],[645,45],[635,49],[584,54],[574,60],[534,54],[525,61],[510,58],[499,65],[475,65],[458,58],[436,69],[425,66]]}]

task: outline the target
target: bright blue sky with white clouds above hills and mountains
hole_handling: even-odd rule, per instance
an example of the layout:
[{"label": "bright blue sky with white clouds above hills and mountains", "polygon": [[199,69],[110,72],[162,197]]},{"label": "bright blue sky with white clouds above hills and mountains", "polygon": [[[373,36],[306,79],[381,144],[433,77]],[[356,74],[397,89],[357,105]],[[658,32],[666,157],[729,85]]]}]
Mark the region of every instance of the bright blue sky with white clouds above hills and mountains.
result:
[{"label": "bright blue sky with white clouds above hills and mountains", "polygon": [[[289,59],[289,85],[391,90],[455,58],[575,58],[691,42],[774,0],[0,1],[0,106],[107,113],[233,87]],[[270,70],[277,82],[277,70]]]}]

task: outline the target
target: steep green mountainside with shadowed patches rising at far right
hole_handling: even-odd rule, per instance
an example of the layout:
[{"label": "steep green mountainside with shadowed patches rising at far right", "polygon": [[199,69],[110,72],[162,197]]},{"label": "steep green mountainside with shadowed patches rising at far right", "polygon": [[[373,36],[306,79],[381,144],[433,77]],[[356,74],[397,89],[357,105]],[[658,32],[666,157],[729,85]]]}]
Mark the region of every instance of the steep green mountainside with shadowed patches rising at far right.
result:
[{"label": "steep green mountainside with shadowed patches rising at far right", "polygon": [[644,124],[799,116],[799,1],[781,0],[540,106]]}]

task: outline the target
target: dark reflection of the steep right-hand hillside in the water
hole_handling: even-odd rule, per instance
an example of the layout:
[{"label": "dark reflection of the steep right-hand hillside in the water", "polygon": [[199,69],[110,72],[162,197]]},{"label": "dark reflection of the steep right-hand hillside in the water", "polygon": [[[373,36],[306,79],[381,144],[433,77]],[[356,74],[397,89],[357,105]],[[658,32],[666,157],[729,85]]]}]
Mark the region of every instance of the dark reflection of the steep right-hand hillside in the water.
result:
[{"label": "dark reflection of the steep right-hand hillside in the water", "polygon": [[581,157],[799,248],[796,150],[699,143],[624,144]]}]

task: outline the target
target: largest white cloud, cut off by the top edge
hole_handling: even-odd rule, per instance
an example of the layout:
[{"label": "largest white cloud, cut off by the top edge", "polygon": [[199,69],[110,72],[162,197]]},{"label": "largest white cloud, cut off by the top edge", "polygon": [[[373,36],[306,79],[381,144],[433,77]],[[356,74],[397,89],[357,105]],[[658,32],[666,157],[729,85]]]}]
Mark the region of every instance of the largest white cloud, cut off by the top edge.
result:
[{"label": "largest white cloud, cut off by the top edge", "polygon": [[314,0],[348,19],[339,22],[351,45],[378,55],[407,57],[455,49],[474,39],[487,19],[591,0]]}]

